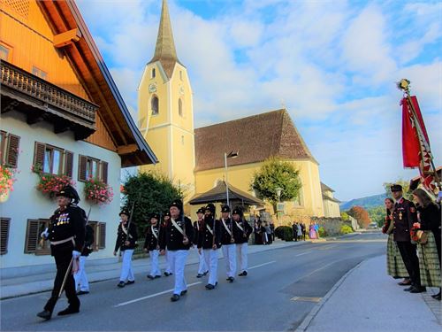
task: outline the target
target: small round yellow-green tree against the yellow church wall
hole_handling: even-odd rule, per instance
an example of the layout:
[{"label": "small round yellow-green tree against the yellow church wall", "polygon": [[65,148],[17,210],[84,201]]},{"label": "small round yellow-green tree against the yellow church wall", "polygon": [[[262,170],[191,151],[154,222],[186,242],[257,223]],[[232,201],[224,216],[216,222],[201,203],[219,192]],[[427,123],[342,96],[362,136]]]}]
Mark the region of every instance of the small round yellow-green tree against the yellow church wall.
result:
[{"label": "small round yellow-green tree against the yellow church wall", "polygon": [[271,157],[255,172],[251,188],[261,199],[267,200],[276,211],[278,203],[277,188],[281,188],[281,202],[298,197],[301,189],[299,171],[292,163]]}]

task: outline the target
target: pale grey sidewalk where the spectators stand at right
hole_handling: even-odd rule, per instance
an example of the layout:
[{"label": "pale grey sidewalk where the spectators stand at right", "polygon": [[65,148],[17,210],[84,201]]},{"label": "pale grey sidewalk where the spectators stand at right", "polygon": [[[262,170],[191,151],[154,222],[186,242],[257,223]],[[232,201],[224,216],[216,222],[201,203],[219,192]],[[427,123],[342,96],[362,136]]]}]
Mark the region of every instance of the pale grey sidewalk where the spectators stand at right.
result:
[{"label": "pale grey sidewalk where the spectators stand at right", "polygon": [[316,305],[296,332],[440,331],[438,289],[409,294],[386,274],[385,255],[355,266]]}]

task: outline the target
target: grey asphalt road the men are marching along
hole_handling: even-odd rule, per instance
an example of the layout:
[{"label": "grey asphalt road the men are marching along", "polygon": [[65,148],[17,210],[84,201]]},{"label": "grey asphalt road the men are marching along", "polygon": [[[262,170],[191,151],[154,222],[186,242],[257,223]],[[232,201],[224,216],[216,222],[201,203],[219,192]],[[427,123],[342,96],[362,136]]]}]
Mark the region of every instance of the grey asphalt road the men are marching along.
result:
[{"label": "grey asphalt road the men are marching along", "polygon": [[[385,235],[366,233],[345,240],[263,251],[248,257],[249,274],[225,281],[225,262],[218,264],[219,284],[205,290],[206,278],[186,267],[188,293],[171,303],[172,277],[136,282],[118,289],[115,281],[96,282],[80,297],[80,313],[60,317],[62,297],[51,320],[35,316],[49,292],[0,302],[2,331],[285,331],[293,330],[342,275],[364,259],[385,253]],[[363,285],[361,285],[363,287]]]}]

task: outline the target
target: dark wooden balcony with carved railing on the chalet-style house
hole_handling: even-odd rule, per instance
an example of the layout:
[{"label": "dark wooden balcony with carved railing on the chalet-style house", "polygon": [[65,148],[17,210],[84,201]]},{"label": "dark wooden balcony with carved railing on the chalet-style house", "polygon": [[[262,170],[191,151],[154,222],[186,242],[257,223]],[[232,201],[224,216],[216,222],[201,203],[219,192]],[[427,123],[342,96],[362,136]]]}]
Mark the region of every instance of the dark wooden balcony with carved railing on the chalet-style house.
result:
[{"label": "dark wooden balcony with carved railing on the chalet-style house", "polygon": [[6,61],[2,61],[1,69],[2,113],[24,112],[29,125],[49,121],[55,133],[72,130],[77,140],[95,132],[96,104]]}]

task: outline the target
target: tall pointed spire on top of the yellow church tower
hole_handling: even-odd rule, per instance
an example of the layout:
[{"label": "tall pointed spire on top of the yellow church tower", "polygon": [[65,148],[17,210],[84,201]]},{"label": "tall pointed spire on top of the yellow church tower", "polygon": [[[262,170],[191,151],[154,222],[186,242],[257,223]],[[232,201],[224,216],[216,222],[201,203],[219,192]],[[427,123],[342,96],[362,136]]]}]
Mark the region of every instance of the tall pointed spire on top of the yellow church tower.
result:
[{"label": "tall pointed spire on top of the yellow church tower", "polygon": [[158,36],[156,37],[155,54],[154,58],[149,61],[149,64],[156,61],[161,62],[161,65],[163,66],[164,71],[169,79],[171,78],[175,64],[177,62],[179,63],[177,51],[175,50],[175,42],[173,41],[173,34],[171,31],[171,18],[169,17],[167,0],[163,0],[160,26],[158,27]]}]

